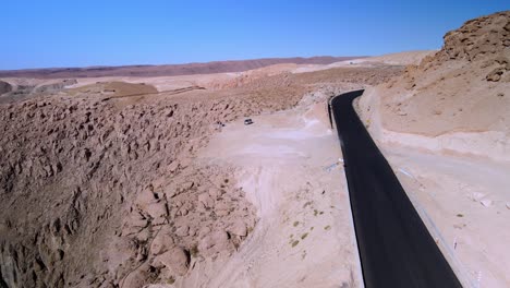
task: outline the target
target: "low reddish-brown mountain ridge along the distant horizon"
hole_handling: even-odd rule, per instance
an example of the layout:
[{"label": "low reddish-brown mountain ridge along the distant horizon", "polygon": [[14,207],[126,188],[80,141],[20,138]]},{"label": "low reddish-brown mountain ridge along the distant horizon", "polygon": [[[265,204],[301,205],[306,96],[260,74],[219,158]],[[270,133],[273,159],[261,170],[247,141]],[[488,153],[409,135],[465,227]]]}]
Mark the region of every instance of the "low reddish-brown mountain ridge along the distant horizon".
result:
[{"label": "low reddish-brown mountain ridge along the distant horizon", "polygon": [[25,70],[0,70],[0,77],[101,77],[101,76],[178,76],[193,74],[211,74],[243,72],[263,67],[294,64],[330,64],[333,62],[359,59],[363,57],[320,56],[311,58],[263,58],[252,60],[214,61],[204,63],[165,64],[165,65],[125,65],[125,67],[88,67],[88,68],[48,68]]}]

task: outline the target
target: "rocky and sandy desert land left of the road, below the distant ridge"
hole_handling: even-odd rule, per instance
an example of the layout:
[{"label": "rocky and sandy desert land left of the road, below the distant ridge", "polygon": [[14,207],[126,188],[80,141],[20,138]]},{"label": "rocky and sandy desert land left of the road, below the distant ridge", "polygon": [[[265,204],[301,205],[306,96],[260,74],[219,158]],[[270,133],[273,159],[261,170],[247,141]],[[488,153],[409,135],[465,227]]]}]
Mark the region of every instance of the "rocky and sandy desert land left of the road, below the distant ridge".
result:
[{"label": "rocky and sandy desert land left of the road, below the distant ridge", "polygon": [[2,284],[357,286],[327,100],[403,67],[300,67],[3,79]]}]

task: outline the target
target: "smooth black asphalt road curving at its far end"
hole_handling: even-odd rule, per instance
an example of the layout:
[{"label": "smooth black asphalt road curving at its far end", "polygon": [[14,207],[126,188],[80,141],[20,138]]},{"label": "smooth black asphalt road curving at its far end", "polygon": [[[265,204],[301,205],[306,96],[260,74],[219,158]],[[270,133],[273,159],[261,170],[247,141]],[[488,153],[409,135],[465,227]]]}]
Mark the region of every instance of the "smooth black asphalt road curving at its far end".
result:
[{"label": "smooth black asphalt road curving at its far end", "polygon": [[357,117],[355,91],[331,100],[366,288],[462,287]]}]

